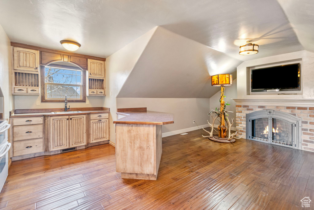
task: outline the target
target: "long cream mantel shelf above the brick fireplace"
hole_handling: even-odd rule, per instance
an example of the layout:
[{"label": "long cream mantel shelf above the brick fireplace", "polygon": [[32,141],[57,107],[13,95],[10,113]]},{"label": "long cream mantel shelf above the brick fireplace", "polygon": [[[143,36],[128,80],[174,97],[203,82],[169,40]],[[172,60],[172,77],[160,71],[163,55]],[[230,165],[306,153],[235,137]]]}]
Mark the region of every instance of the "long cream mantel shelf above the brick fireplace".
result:
[{"label": "long cream mantel shelf above the brick fireplace", "polygon": [[269,106],[313,106],[314,99],[233,99],[241,105],[269,105]]}]

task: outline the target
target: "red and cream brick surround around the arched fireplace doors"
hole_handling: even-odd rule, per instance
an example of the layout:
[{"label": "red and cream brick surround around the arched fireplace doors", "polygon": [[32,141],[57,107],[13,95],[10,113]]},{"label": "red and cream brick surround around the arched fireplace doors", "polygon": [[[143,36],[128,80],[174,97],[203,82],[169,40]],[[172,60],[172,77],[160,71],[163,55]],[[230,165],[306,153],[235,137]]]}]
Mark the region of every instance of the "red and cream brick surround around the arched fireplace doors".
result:
[{"label": "red and cream brick surround around the arched fireplace doors", "polygon": [[314,152],[314,107],[236,105],[237,136],[246,138],[246,114],[253,111],[272,109],[282,111],[302,119],[302,149]]}]

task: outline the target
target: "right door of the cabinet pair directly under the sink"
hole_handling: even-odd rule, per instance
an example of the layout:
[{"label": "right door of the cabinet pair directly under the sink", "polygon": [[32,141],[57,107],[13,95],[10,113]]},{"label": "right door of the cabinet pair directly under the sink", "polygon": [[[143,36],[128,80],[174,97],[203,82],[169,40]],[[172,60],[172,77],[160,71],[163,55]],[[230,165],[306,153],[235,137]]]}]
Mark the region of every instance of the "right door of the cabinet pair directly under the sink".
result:
[{"label": "right door of the cabinet pair directly under the sink", "polygon": [[86,115],[69,116],[70,147],[86,144]]}]

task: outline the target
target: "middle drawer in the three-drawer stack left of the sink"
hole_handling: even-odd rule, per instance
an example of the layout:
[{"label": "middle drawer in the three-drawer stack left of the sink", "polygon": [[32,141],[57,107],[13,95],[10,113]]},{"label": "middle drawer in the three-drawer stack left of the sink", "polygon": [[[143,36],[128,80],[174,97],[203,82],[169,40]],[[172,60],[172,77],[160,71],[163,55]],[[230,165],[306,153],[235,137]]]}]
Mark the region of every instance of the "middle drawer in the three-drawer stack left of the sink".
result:
[{"label": "middle drawer in the three-drawer stack left of the sink", "polygon": [[42,137],[43,137],[43,124],[13,127],[13,141]]}]

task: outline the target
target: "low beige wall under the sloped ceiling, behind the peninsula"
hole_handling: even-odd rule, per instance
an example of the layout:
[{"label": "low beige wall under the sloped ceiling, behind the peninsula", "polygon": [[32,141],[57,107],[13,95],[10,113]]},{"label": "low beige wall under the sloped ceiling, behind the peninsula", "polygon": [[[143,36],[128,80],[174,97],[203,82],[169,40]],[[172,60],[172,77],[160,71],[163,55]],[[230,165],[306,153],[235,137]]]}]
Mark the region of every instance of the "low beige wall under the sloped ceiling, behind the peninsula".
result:
[{"label": "low beige wall under the sloped ceiling, behind the peninsula", "polygon": [[[204,98],[117,98],[117,108],[147,107],[150,111],[174,114],[174,123],[163,125],[162,133],[207,125],[209,99]],[[196,124],[193,124],[193,120]],[[192,129],[192,130],[195,130]],[[179,132],[180,133],[180,132]],[[174,134],[172,134],[174,135]]]}]

